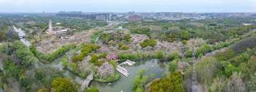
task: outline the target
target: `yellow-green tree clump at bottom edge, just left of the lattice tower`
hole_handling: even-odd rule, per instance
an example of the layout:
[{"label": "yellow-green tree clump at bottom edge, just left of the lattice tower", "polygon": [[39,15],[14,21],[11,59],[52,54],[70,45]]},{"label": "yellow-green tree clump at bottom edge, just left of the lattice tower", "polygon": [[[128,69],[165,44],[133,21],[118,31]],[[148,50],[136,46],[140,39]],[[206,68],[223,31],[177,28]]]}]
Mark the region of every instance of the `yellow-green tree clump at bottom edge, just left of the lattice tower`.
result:
[{"label": "yellow-green tree clump at bottom edge, just left of the lattice tower", "polygon": [[157,79],[153,81],[150,85],[150,92],[171,92],[171,91],[185,91],[185,86],[183,84],[183,77],[181,72],[174,72],[170,77],[165,77],[163,79]]}]

